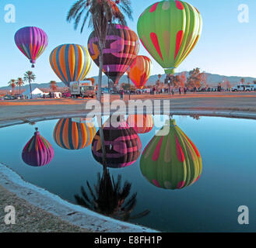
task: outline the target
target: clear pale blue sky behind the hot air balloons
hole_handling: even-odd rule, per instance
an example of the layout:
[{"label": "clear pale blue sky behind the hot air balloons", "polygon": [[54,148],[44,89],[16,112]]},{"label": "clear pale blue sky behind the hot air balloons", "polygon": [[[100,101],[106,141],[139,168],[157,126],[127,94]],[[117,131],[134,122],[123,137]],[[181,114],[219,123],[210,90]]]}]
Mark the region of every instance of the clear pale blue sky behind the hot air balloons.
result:
[{"label": "clear pale blue sky behind the hot air balloons", "polygon": [[[65,21],[66,14],[74,0],[1,0],[0,1],[0,87],[12,78],[23,77],[30,70],[30,63],[17,49],[14,34],[23,26],[38,26],[47,33],[49,45],[37,60],[33,72],[37,82],[59,81],[51,70],[49,55],[51,50],[62,43],[78,43],[87,47],[88,36],[92,30],[85,29],[80,34],[73,25]],[[132,0],[134,21],[128,26],[137,32],[139,15],[156,0]],[[200,67],[202,71],[227,76],[256,77],[256,1],[255,0],[189,0],[202,14],[204,22],[202,37],[197,47],[177,69],[189,71]],[[6,23],[5,5],[16,7],[16,22]],[[249,6],[248,23],[238,22],[238,6]],[[141,46],[140,54],[149,56]],[[149,56],[150,57],[150,56]],[[153,60],[153,58],[152,58]],[[153,60],[152,74],[163,74],[163,69]],[[89,76],[98,74],[93,64]]]}]

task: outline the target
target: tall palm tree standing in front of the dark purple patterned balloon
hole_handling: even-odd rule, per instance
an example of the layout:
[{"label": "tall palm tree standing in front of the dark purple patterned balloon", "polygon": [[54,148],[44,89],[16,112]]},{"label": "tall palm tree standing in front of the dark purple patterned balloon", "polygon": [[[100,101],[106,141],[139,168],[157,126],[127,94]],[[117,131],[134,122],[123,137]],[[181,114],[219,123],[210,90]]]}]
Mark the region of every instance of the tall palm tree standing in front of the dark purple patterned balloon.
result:
[{"label": "tall palm tree standing in front of the dark purple patterned balloon", "polygon": [[101,102],[101,84],[103,70],[103,49],[106,45],[107,25],[113,21],[117,21],[122,25],[126,25],[124,15],[128,15],[132,19],[132,9],[130,0],[79,0],[72,5],[68,11],[67,21],[74,21],[74,28],[77,29],[82,16],[81,33],[88,21],[88,27],[93,28],[96,37],[99,40],[99,82],[97,99]]}]

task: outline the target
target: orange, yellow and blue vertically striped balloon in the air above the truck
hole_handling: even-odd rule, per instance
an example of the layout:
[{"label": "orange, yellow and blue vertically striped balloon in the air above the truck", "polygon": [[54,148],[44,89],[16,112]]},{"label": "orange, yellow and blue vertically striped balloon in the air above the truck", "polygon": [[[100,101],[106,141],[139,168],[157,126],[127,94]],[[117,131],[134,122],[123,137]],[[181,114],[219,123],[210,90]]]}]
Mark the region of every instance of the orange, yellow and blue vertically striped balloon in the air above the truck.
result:
[{"label": "orange, yellow and blue vertically striped balloon in the air above the truck", "polygon": [[55,74],[70,87],[72,81],[82,81],[92,67],[86,47],[65,44],[56,47],[50,55],[50,64]]}]

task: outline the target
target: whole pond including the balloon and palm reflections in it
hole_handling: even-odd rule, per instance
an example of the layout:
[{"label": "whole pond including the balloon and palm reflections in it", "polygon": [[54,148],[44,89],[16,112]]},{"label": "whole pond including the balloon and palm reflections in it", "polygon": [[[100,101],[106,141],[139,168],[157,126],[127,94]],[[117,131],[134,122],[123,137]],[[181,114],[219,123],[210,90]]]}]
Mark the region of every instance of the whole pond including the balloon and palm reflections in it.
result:
[{"label": "whole pond including the balloon and palm reflections in it", "polygon": [[[132,128],[139,116],[117,127],[108,117],[101,134],[96,118],[2,128],[0,162],[68,202],[163,232],[256,231],[254,120],[142,115]],[[42,137],[26,146],[36,127]],[[240,205],[250,225],[238,224]]]}]

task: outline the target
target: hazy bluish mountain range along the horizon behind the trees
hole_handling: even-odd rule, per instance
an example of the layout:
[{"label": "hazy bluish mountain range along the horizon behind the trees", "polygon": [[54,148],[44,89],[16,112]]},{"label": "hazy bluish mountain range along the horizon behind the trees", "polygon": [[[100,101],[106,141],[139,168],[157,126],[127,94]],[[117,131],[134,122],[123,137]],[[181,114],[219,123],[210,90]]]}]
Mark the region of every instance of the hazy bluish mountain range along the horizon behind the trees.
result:
[{"label": "hazy bluish mountain range along the horizon behind the trees", "polygon": [[[177,74],[176,74],[177,75]],[[256,78],[254,77],[228,77],[228,76],[222,76],[219,74],[210,74],[210,73],[206,73],[207,75],[207,81],[209,85],[217,85],[220,82],[222,82],[223,80],[225,81],[230,81],[230,84],[234,85],[234,84],[238,84],[241,80],[241,78],[244,78],[246,84],[247,83],[253,83],[253,81],[256,81]],[[186,77],[188,77],[188,71],[186,71]],[[165,74],[162,75],[161,77],[161,81],[164,81],[165,78]],[[98,80],[98,77],[93,77],[96,81]],[[147,82],[148,85],[153,85],[156,84],[156,81],[158,80],[158,74],[157,75],[152,75],[151,77],[149,77],[149,81]],[[128,83],[128,77],[126,75],[124,75],[123,77],[121,77],[120,84],[122,83]],[[131,81],[132,83],[132,81]],[[49,83],[44,83],[44,84],[32,84],[33,88],[50,88],[50,84]],[[59,82],[57,83],[57,86],[59,88],[65,87],[65,84]],[[103,86],[107,86],[107,76],[103,75]],[[26,84],[25,86],[22,87],[23,90],[26,90],[30,88],[29,84]],[[10,90],[10,87],[2,87],[0,88],[0,90],[4,91],[4,90]],[[17,88],[16,88],[17,89]]]}]

